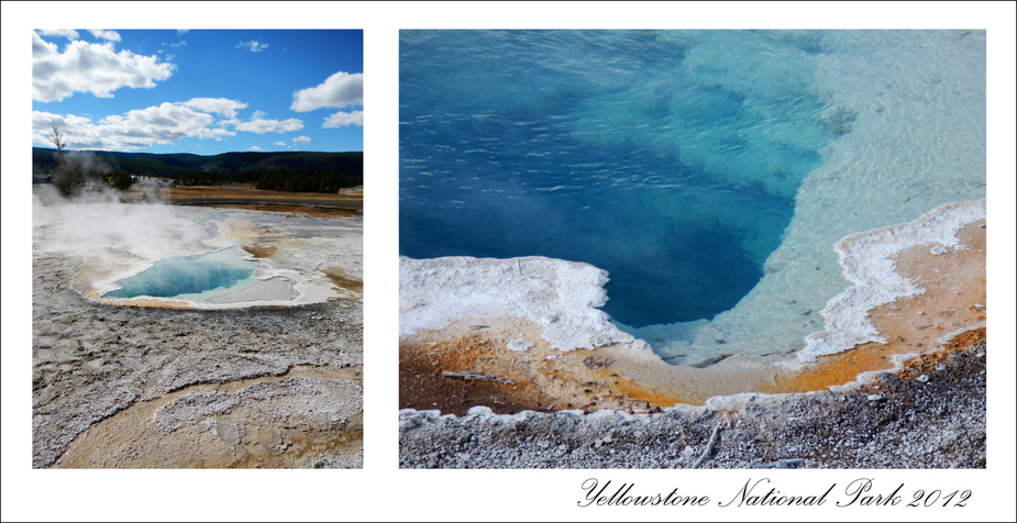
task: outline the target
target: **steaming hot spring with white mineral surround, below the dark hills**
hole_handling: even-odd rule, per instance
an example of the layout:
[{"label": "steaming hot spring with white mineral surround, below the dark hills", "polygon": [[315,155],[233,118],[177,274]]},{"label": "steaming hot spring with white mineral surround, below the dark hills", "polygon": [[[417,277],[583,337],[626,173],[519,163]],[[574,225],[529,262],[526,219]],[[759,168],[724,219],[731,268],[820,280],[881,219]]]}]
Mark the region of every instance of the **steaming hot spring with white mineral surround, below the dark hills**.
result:
[{"label": "steaming hot spring with white mineral surround, below the dark hills", "polygon": [[240,309],[362,299],[357,215],[67,202],[33,189],[33,246],[79,260],[82,297],[128,307]]}]

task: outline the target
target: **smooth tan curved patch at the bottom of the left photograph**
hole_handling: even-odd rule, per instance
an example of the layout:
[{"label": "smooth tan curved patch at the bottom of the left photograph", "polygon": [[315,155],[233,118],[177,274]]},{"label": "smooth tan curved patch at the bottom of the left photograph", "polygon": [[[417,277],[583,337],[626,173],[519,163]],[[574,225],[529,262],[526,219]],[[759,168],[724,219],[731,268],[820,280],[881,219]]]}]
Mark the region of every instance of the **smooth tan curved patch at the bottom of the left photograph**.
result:
[{"label": "smooth tan curved patch at the bottom of the left photograph", "polygon": [[213,416],[217,433],[202,426],[201,420],[166,431],[154,418],[159,409],[196,392],[230,394],[254,383],[278,383],[292,378],[312,378],[321,383],[361,382],[362,376],[360,365],[343,369],[296,366],[281,376],[186,387],[155,400],[137,402],[89,427],[51,468],[308,467],[322,455],[360,453],[361,418],[344,424],[314,422],[311,418],[287,423],[270,409],[257,404],[258,400],[241,402]]}]

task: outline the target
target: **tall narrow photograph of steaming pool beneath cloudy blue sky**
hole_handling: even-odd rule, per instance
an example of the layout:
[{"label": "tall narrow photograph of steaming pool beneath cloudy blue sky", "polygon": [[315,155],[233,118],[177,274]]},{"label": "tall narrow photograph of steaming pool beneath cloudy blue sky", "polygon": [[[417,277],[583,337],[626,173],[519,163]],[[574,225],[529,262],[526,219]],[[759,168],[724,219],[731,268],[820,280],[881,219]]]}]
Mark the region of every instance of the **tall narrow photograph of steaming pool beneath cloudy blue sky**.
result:
[{"label": "tall narrow photograph of steaming pool beneath cloudy blue sky", "polygon": [[33,467],[362,468],[363,32],[31,37]]}]

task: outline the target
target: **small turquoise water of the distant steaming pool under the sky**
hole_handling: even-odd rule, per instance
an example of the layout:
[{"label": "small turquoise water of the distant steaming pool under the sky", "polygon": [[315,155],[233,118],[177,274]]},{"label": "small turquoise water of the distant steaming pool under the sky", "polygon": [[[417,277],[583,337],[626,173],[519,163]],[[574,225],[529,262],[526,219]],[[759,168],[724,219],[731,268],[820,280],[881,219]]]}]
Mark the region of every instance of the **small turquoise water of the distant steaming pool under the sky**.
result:
[{"label": "small turquoise water of the distant steaming pool under the sky", "polygon": [[256,263],[239,259],[230,249],[164,258],[130,278],[118,280],[121,288],[104,293],[103,298],[170,298],[229,289],[250,279],[256,268]]}]

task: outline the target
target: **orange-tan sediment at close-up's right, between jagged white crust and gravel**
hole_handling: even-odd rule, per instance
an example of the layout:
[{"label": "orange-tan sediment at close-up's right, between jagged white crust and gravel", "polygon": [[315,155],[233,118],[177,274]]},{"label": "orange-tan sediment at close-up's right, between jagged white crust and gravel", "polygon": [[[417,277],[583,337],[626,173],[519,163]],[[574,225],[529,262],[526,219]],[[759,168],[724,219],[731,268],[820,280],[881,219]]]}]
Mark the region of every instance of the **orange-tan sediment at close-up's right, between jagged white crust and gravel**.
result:
[{"label": "orange-tan sediment at close-up's right, between jagged white crust and gravel", "polygon": [[[852,350],[821,356],[803,371],[777,378],[761,392],[807,392],[854,381],[862,372],[894,368],[892,357],[929,354],[942,348],[939,340],[950,333],[985,324],[985,221],[958,232],[963,248],[936,255],[928,245],[902,252],[896,269],[917,280],[926,292],[869,312],[869,319],[886,344],[866,343]],[[984,331],[984,329],[983,329]]]}]

